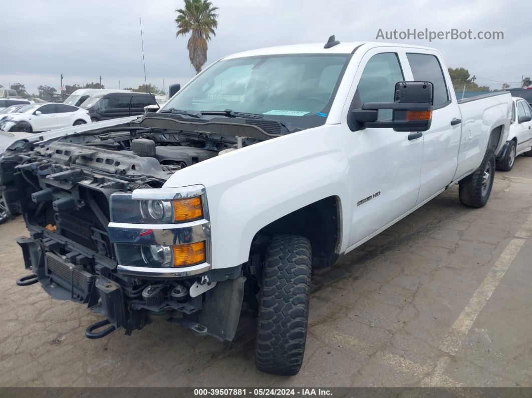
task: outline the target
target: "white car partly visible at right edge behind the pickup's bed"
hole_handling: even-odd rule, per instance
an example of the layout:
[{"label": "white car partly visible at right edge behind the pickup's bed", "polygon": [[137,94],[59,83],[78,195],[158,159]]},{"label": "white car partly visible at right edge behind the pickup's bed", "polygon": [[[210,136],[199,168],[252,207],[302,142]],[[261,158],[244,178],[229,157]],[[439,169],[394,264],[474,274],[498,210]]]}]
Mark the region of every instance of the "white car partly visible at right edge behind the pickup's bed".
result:
[{"label": "white car partly visible at right edge behind the pickup's bed", "polygon": [[532,108],[528,102],[520,97],[512,97],[512,123],[508,134],[508,141],[497,158],[497,169],[510,171],[516,156],[532,156]]}]

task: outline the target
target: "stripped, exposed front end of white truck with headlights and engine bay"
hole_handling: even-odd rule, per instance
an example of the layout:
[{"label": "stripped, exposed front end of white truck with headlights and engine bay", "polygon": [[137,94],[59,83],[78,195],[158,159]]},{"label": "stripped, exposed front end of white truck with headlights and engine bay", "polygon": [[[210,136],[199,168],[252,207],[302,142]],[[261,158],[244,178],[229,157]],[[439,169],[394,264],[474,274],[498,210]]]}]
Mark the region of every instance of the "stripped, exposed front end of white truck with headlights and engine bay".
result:
[{"label": "stripped, exposed front end of white truck with headlights and engine bay", "polygon": [[181,168],[275,136],[245,120],[155,115],[10,148],[0,157],[0,181],[30,235],[17,239],[30,271],[17,284],[38,282],[52,298],[101,314],[89,338],[129,335],[168,315],[232,340],[247,267],[212,267],[203,185],[163,185]]}]

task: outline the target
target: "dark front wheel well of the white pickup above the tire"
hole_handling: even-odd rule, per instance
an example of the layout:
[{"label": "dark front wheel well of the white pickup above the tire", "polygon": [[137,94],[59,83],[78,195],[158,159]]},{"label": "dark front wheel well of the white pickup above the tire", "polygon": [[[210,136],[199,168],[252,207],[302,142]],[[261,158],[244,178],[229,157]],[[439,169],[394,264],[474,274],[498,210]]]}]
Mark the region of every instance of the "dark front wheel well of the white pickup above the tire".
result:
[{"label": "dark front wheel well of the white pickup above the tire", "polygon": [[269,239],[274,235],[304,236],[312,246],[312,266],[330,266],[338,258],[340,225],[339,198],[330,196],[263,227],[253,239],[252,252],[259,251],[261,255],[265,253]]}]

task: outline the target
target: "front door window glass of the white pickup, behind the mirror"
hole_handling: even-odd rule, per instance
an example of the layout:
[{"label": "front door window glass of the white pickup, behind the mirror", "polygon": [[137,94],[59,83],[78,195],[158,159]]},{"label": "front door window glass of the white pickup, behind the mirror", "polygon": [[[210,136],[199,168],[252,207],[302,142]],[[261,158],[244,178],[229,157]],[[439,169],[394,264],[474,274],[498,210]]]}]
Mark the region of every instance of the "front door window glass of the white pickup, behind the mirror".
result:
[{"label": "front door window glass of the white pickup, behind the mirror", "polygon": [[[360,99],[360,105],[366,102],[393,102],[395,83],[403,80],[403,72],[397,54],[373,55],[364,67],[359,86],[356,88],[355,100]],[[378,120],[391,117],[392,109],[379,110]]]}]

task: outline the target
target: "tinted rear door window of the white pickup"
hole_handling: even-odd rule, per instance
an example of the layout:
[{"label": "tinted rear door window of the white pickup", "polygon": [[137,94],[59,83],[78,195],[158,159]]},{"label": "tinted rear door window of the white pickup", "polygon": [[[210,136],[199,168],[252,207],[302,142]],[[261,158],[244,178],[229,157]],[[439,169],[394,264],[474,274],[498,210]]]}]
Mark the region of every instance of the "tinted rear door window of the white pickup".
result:
[{"label": "tinted rear door window of the white pickup", "polygon": [[434,106],[449,100],[447,85],[438,58],[430,54],[406,54],[414,80],[429,81],[434,85]]}]

